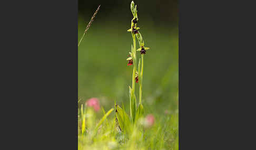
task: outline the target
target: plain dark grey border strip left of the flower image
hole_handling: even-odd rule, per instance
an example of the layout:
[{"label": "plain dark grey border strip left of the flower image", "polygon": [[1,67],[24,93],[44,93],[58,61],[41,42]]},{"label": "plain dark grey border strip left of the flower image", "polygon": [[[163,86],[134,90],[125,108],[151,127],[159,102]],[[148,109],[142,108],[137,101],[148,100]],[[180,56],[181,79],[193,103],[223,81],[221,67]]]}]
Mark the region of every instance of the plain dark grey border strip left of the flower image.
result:
[{"label": "plain dark grey border strip left of the flower image", "polygon": [[2,146],[77,149],[78,0],[9,3],[1,5]]}]

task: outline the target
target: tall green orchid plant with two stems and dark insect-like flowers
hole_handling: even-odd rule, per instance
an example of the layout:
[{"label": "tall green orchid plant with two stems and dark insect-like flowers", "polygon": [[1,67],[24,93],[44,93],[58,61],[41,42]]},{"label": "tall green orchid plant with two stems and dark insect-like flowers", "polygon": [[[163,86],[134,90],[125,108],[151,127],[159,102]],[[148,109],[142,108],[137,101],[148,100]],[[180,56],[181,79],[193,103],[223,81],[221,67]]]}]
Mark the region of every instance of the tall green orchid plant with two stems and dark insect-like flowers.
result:
[{"label": "tall green orchid plant with two stems and dark insect-like flowers", "polygon": [[[145,47],[145,42],[142,38],[142,35],[139,31],[138,27],[138,21],[139,17],[137,15],[137,5],[134,4],[134,2],[131,2],[131,12],[133,15],[133,18],[131,20],[131,28],[127,31],[131,32],[132,39],[133,39],[133,45],[131,46],[131,51],[129,52],[130,55],[128,55],[129,62],[127,63],[127,66],[133,66],[132,71],[132,88],[129,86],[129,97],[130,97],[130,123],[135,123],[137,120],[143,116],[144,110],[142,105],[142,81],[143,81],[143,67],[144,67],[144,55],[146,54],[146,50],[150,49],[149,47]],[[139,42],[139,48],[136,49],[136,39]],[[136,51],[140,51],[140,57],[139,62],[136,58]],[[137,63],[138,62],[138,63]],[[139,83],[140,86],[140,93],[139,93],[139,105],[137,106],[137,100],[135,96],[135,84]],[[127,115],[124,113],[124,110],[116,105],[116,121],[119,123],[119,128],[126,128],[124,125],[125,117]],[[130,126],[127,125],[126,126]],[[128,129],[129,130],[129,129]]]}]

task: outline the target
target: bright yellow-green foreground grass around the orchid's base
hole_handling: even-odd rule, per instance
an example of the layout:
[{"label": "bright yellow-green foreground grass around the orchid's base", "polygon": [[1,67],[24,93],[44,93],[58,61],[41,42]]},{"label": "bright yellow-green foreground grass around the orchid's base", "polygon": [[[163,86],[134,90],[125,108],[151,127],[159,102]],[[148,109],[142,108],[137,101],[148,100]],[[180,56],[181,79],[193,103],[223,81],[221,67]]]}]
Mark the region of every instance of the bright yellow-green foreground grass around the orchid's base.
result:
[{"label": "bright yellow-green foreground grass around the orchid's base", "polygon": [[179,149],[178,112],[156,116],[151,127],[143,127],[143,118],[132,125],[120,106],[117,106],[117,112],[120,125],[123,120],[122,132],[116,128],[115,117],[110,118],[110,124],[105,119],[96,134],[90,131],[78,133],[78,149]]}]

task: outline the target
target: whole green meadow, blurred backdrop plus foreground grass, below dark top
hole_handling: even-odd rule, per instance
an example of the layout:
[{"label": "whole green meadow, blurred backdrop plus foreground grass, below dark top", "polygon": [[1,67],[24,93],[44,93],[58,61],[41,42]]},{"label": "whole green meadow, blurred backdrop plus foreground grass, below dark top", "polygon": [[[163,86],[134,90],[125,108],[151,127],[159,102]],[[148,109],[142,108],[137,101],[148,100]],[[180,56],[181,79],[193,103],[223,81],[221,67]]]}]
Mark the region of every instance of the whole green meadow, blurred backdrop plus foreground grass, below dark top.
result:
[{"label": "whole green meadow, blurred backdrop plus foreground grass, below dark top", "polygon": [[[142,103],[144,117],[152,114],[154,123],[145,126],[144,119],[135,124],[124,121],[129,130],[118,130],[115,103],[130,114],[133,68],[127,66],[126,58],[132,38],[126,30],[131,28],[132,16],[104,20],[96,16],[78,47],[78,149],[179,149],[178,25],[157,26],[149,16],[139,17],[140,32],[150,47],[144,55]],[[78,16],[78,40],[89,21]],[[135,93],[139,99],[138,84]],[[90,98],[99,100],[100,111],[86,106]],[[82,134],[83,117],[86,126]]]}]

